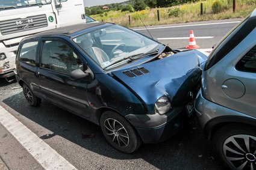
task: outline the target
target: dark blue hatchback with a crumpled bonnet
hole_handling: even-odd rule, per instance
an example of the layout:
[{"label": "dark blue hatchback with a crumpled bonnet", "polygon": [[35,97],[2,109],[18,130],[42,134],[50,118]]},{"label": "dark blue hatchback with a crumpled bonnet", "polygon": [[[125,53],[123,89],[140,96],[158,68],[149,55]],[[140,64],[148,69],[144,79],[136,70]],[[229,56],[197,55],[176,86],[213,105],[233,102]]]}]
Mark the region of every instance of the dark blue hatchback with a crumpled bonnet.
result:
[{"label": "dark blue hatchback with a crumpled bonnet", "polygon": [[112,23],[58,28],[25,38],[16,79],[31,106],[48,100],[101,126],[117,150],[175,135],[193,114],[198,50],[172,50]]}]

